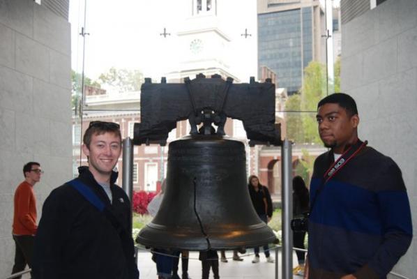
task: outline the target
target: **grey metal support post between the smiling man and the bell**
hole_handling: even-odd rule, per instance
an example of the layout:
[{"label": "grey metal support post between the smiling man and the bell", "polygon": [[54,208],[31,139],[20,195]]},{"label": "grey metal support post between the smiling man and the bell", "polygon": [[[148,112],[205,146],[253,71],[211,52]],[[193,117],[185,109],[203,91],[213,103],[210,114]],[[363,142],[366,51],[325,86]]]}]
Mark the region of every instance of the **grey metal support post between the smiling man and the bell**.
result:
[{"label": "grey metal support post between the smiling man and the bell", "polygon": [[122,188],[130,199],[132,206],[133,196],[133,144],[130,137],[123,140],[123,175]]}]

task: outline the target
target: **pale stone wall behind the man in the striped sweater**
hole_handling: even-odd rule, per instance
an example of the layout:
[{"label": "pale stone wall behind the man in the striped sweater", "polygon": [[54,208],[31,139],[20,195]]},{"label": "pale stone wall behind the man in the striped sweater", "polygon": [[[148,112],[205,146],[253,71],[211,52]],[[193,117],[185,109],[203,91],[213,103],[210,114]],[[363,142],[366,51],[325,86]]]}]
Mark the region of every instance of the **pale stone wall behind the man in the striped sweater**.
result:
[{"label": "pale stone wall behind the man in the striped sweater", "polygon": [[[416,234],[417,1],[388,0],[342,24],[341,81],[358,103],[361,139],[402,169]],[[414,237],[394,271],[417,278],[416,260]]]}]

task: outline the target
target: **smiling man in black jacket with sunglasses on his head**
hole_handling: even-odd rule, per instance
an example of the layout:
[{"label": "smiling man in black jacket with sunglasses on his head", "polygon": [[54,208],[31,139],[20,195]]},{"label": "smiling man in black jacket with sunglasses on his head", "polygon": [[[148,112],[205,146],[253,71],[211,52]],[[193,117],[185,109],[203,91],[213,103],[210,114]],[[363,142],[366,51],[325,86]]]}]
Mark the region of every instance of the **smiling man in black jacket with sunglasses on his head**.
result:
[{"label": "smiling man in black jacket with sunglasses on his head", "polygon": [[114,184],[121,154],[119,124],[93,121],[83,138],[88,167],[45,200],[33,273],[46,278],[139,278],[130,202]]}]

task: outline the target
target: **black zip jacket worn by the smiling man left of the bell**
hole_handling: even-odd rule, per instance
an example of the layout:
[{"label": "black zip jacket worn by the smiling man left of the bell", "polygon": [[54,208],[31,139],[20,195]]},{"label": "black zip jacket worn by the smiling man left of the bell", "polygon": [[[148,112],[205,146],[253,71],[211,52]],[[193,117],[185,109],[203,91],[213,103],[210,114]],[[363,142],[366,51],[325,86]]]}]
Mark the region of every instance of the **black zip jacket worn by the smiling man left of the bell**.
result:
[{"label": "black zip jacket worn by the smiling man left of the bell", "polygon": [[109,278],[136,279],[132,211],[126,193],[114,184],[113,202],[87,167],[79,168],[78,179],[109,206],[126,230],[123,240],[104,213],[78,191],[64,184],[50,193],[43,205],[35,238],[33,273],[36,279]]}]

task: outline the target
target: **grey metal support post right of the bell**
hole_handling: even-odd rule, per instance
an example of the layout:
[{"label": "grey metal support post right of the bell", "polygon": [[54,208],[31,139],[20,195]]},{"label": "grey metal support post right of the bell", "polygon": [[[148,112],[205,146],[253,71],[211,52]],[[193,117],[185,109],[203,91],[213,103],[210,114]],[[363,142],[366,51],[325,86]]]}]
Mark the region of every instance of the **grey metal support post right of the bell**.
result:
[{"label": "grey metal support post right of the bell", "polygon": [[282,278],[292,279],[292,152],[291,142],[284,140],[282,156]]}]

